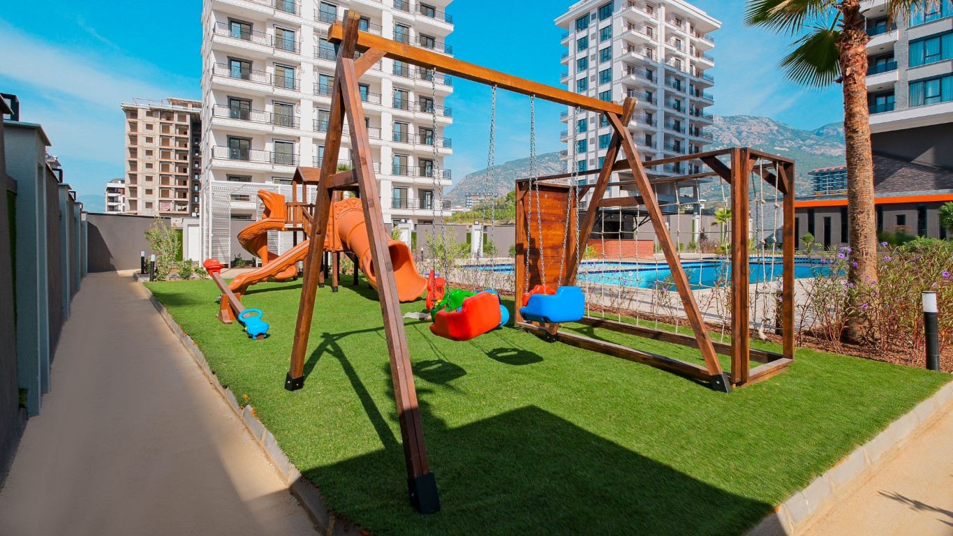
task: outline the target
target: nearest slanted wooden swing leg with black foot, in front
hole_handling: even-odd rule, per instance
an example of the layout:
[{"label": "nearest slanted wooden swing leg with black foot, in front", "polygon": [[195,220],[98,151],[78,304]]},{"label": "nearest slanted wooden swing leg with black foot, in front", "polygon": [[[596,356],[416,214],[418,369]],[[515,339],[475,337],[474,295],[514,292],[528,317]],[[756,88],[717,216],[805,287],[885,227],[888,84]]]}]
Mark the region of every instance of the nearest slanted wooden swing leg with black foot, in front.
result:
[{"label": "nearest slanted wooden swing leg with black foot, in front", "polygon": [[[355,23],[355,12],[348,14],[348,24]],[[436,479],[430,471],[427,460],[427,448],[423,441],[423,429],[420,424],[420,412],[417,404],[414,371],[411,368],[410,349],[404,331],[403,313],[397,298],[394,278],[394,266],[388,248],[388,237],[384,232],[384,216],[380,210],[380,194],[374,174],[373,154],[367,128],[364,126],[364,110],[361,107],[360,89],[357,87],[357,74],[354,60],[342,57],[337,62],[335,82],[340,81],[340,97],[344,101],[348,125],[351,130],[351,143],[355,157],[357,184],[361,202],[364,206],[364,218],[367,221],[367,236],[371,243],[371,257],[377,272],[377,296],[380,300],[380,312],[384,320],[384,335],[391,361],[391,379],[394,382],[394,395],[397,405],[397,417],[400,421],[400,434],[404,447],[404,461],[407,466],[407,483],[411,503],[421,513],[435,512],[440,508],[436,490]]]}]

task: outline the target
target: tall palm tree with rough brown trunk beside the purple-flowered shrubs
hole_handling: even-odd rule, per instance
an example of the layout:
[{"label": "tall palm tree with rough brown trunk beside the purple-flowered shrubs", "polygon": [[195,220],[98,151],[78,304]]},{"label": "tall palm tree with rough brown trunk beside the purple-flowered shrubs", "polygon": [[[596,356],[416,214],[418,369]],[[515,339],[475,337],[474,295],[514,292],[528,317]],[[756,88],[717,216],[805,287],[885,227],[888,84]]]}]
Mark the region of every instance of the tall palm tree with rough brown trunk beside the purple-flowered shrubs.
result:
[{"label": "tall palm tree with rough brown trunk beside the purple-flowered shrubs", "polygon": [[[891,22],[913,6],[936,0],[888,0]],[[805,33],[781,60],[791,80],[815,87],[841,84],[847,164],[847,221],[850,252],[847,280],[855,286],[877,282],[877,216],[874,162],[867,108],[867,41],[861,0],[748,0],[744,23],[794,35]],[[852,299],[868,301],[854,293]],[[860,311],[848,304],[847,310]],[[861,342],[862,320],[849,318],[844,338]]]}]

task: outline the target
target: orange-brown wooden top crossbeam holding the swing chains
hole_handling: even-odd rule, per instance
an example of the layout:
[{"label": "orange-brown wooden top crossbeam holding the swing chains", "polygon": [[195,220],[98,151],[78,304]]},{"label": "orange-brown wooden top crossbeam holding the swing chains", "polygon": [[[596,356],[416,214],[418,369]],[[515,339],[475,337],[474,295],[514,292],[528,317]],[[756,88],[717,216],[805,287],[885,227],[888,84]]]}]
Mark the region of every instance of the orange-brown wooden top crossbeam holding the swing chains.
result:
[{"label": "orange-brown wooden top crossbeam holding the swing chains", "polygon": [[[353,11],[351,11],[353,12]],[[335,45],[341,42],[344,36],[344,29],[340,22],[335,22],[328,32],[328,41]],[[616,103],[605,102],[594,97],[580,95],[565,89],[558,89],[545,84],[539,84],[532,80],[519,78],[498,70],[487,69],[478,65],[467,63],[451,57],[447,54],[421,49],[405,43],[398,43],[390,39],[361,31],[357,35],[357,50],[374,49],[384,52],[386,57],[402,62],[407,62],[424,69],[436,69],[446,74],[451,74],[486,84],[488,86],[497,86],[499,89],[508,89],[510,91],[524,95],[536,95],[538,99],[573,106],[589,111],[599,113],[622,113],[622,107]],[[351,57],[354,57],[352,54]]]}]

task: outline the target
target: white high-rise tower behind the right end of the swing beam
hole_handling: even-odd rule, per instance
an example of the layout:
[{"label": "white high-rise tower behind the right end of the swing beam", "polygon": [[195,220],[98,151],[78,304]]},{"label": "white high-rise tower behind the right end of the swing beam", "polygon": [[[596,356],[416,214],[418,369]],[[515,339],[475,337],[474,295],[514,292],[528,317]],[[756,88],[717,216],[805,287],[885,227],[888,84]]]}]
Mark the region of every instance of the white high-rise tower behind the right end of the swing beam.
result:
[{"label": "white high-rise tower behind the right end of the swing beam", "polygon": [[[568,67],[562,83],[604,101],[635,97],[629,129],[645,160],[700,152],[711,143],[704,131],[712,124],[704,110],[714,104],[708,90],[715,78],[707,70],[715,66],[715,42],[709,33],[720,28],[719,21],[682,0],[582,0],[556,24],[566,30],[562,44],[569,49],[562,54]],[[562,121],[569,124],[562,132],[567,169],[600,168],[612,139],[608,121],[572,107]],[[698,169],[700,163],[646,170],[650,176],[675,176]],[[697,199],[697,187],[686,198],[680,186],[659,186],[659,202]],[[608,193],[619,192],[614,187]]]}]

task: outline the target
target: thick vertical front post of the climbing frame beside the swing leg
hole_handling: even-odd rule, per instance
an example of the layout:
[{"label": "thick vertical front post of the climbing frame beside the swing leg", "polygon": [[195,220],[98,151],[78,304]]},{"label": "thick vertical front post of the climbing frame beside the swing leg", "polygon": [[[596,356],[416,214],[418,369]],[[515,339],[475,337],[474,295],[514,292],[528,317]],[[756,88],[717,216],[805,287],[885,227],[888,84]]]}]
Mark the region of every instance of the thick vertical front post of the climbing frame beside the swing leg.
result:
[{"label": "thick vertical front post of the climbing frame beside the swing leg", "polygon": [[751,267],[748,252],[748,186],[751,158],[747,149],[731,149],[731,383],[748,381],[750,325],[748,285]]}]

